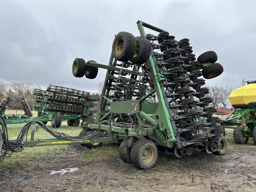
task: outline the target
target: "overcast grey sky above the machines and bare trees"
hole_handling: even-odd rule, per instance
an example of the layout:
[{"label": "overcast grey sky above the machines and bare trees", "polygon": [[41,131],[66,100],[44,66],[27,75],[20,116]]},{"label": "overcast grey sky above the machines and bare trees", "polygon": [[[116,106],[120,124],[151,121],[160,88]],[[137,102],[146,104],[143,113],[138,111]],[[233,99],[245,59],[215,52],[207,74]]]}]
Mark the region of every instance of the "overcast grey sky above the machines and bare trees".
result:
[{"label": "overcast grey sky above the machines and bare trees", "polygon": [[0,81],[97,92],[106,70],[76,78],[73,60],[108,64],[114,36],[139,36],[138,20],[190,39],[196,58],[215,51],[224,72],[206,87],[256,80],[255,0],[0,0]]}]

